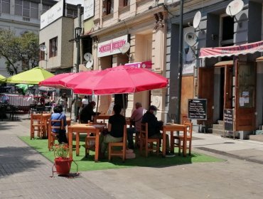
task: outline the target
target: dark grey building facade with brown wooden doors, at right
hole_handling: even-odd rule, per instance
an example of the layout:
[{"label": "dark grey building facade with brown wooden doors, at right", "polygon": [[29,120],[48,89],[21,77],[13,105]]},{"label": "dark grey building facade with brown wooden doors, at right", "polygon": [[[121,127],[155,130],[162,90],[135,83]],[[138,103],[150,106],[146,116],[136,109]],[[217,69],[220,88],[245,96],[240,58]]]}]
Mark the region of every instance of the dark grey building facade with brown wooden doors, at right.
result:
[{"label": "dark grey building facade with brown wooden doors, at right", "polygon": [[[188,119],[188,99],[207,99],[207,119],[194,122],[205,124],[206,129],[213,128],[213,124],[224,119],[224,109],[232,109],[234,131],[245,139],[262,125],[262,63],[257,60],[261,54],[257,50],[252,53],[237,50],[231,56],[222,53],[218,57],[200,58],[203,48],[235,48],[243,44],[250,48],[251,43],[262,41],[262,1],[243,0],[244,6],[235,17],[226,14],[230,2],[186,1],[184,4],[184,40],[186,33],[195,33],[198,45],[190,47],[183,43],[181,121]],[[176,114],[179,5],[169,10],[166,73],[170,74],[171,87],[166,100],[167,119]],[[198,11],[200,24],[193,28]]]}]

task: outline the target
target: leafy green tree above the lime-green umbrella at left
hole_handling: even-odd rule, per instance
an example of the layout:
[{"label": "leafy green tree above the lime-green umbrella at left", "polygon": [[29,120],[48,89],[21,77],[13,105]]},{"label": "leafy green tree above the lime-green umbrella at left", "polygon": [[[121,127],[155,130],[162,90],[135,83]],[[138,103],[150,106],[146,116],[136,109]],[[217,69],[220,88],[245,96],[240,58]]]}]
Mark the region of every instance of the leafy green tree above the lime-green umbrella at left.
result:
[{"label": "leafy green tree above the lime-green umbrella at left", "polygon": [[10,75],[35,68],[38,52],[38,36],[35,33],[16,36],[14,31],[0,30],[0,58],[6,59],[6,70]]}]

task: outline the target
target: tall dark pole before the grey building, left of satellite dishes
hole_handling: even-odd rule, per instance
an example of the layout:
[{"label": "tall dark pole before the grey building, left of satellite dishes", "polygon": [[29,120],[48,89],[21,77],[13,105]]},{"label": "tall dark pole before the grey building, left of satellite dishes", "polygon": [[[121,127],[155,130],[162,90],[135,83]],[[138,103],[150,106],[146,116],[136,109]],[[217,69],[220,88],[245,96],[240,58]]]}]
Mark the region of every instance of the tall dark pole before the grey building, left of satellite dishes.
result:
[{"label": "tall dark pole before the grey building, left of satellite dishes", "polygon": [[178,100],[177,100],[177,119],[176,123],[181,123],[181,89],[183,72],[183,0],[180,4],[180,28],[179,28],[179,64],[178,64]]}]

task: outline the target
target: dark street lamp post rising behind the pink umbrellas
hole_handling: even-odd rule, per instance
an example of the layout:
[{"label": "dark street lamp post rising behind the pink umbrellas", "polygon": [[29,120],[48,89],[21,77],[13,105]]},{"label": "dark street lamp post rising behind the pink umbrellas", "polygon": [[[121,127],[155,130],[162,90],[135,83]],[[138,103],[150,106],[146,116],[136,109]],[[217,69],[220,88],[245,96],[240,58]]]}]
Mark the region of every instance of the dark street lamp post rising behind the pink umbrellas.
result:
[{"label": "dark street lamp post rising behind the pink umbrellas", "polygon": [[[77,4],[77,18],[78,18],[78,27],[81,28],[81,18],[80,18],[80,8],[81,4]],[[77,31],[78,32],[78,31]],[[77,45],[77,65],[76,65],[76,72],[80,70],[80,34],[77,34],[76,38],[76,45]],[[77,122],[78,112],[77,112],[77,99],[78,96],[75,95],[75,118],[74,121]]]}]

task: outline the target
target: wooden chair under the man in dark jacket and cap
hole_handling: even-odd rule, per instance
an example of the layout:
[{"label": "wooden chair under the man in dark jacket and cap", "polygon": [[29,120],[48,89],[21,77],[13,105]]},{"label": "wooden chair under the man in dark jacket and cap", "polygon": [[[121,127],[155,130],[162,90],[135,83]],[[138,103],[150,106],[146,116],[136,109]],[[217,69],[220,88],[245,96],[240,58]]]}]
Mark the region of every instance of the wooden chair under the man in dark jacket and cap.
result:
[{"label": "wooden chair under the man in dark jacket and cap", "polygon": [[[159,155],[160,139],[148,137],[148,123],[141,124],[140,131],[140,152],[142,154],[143,147],[145,148],[145,156],[148,157],[149,151],[154,151],[154,142],[156,142],[156,152]],[[150,144],[150,148],[148,146]]]}]

